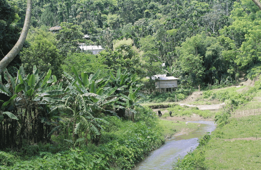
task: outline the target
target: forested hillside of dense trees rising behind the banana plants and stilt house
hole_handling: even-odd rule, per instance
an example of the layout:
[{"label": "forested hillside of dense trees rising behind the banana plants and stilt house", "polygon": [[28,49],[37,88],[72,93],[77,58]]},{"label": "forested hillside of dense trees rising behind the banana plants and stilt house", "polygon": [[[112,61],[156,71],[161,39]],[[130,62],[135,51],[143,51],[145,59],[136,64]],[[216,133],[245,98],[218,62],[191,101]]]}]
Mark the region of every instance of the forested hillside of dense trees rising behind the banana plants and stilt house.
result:
[{"label": "forested hillside of dense trees rising behind the banana plants and stilt house", "polygon": [[[3,58],[19,36],[26,1],[0,2]],[[121,67],[140,77],[168,70],[185,86],[228,84],[238,79],[239,70],[260,62],[259,23],[260,10],[251,0],[37,0],[27,42],[9,72],[15,75],[21,65],[29,71],[36,64],[61,77],[71,66],[89,74]],[[48,32],[52,26],[62,30]],[[78,43],[105,50],[83,54]],[[249,78],[255,74],[250,71]]]}]

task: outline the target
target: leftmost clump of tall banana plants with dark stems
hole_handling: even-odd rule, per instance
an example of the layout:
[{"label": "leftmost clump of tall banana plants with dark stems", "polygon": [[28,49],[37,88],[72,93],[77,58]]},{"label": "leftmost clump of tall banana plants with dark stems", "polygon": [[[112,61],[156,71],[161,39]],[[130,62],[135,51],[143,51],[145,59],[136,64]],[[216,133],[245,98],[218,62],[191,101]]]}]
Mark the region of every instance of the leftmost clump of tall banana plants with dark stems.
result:
[{"label": "leftmost clump of tall banana plants with dark stems", "polygon": [[64,94],[62,83],[58,84],[56,76],[51,76],[51,70],[47,74],[39,74],[36,66],[33,67],[33,74],[27,75],[21,66],[16,79],[6,71],[5,79],[8,83],[0,86],[0,92],[10,99],[2,104],[1,110],[13,108],[11,112],[14,113],[20,109],[17,115],[20,125],[18,148],[21,147],[22,138],[25,138],[25,129],[31,132],[30,138],[33,143],[47,141],[47,134],[50,132],[47,122],[52,118],[44,108],[48,104],[61,101],[57,96]]}]

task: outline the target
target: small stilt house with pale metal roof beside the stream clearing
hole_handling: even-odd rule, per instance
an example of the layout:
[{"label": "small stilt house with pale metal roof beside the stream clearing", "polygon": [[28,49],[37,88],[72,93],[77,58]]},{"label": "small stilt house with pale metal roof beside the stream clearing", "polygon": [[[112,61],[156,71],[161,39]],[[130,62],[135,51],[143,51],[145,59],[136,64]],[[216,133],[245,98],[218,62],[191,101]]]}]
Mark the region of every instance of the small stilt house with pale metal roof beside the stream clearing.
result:
[{"label": "small stilt house with pale metal roof beside the stream clearing", "polygon": [[158,92],[173,92],[178,87],[179,78],[169,76],[167,74],[154,75],[157,81],[155,82],[155,90]]}]

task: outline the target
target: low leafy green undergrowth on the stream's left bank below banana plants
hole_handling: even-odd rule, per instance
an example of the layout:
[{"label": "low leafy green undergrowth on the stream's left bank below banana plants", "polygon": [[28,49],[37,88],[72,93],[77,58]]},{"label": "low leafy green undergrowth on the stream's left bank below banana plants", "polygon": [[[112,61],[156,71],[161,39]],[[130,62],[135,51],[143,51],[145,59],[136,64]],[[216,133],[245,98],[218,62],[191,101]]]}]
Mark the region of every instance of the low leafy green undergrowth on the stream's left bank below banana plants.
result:
[{"label": "low leafy green undergrowth on the stream's left bank below banana plants", "polygon": [[[25,154],[14,151],[0,152],[1,169],[130,169],[149,151],[158,148],[170,137],[185,127],[183,122],[158,119],[149,108],[137,108],[136,123],[105,116],[109,124],[103,125],[99,145],[86,140],[81,149],[63,143],[63,132],[52,135],[56,144],[23,145]],[[190,128],[197,124],[190,123]],[[61,141],[59,141],[61,140]]]}]

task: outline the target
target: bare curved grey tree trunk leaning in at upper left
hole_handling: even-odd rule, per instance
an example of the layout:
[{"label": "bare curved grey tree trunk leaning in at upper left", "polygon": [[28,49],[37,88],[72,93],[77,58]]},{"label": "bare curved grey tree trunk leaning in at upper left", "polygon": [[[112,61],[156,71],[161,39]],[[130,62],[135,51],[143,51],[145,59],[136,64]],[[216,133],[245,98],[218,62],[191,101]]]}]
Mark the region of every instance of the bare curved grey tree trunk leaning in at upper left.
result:
[{"label": "bare curved grey tree trunk leaning in at upper left", "polygon": [[30,27],[32,16],[32,0],[27,0],[25,23],[21,35],[12,50],[0,61],[0,74],[8,66],[8,64],[15,58],[25,43],[25,39]]}]

